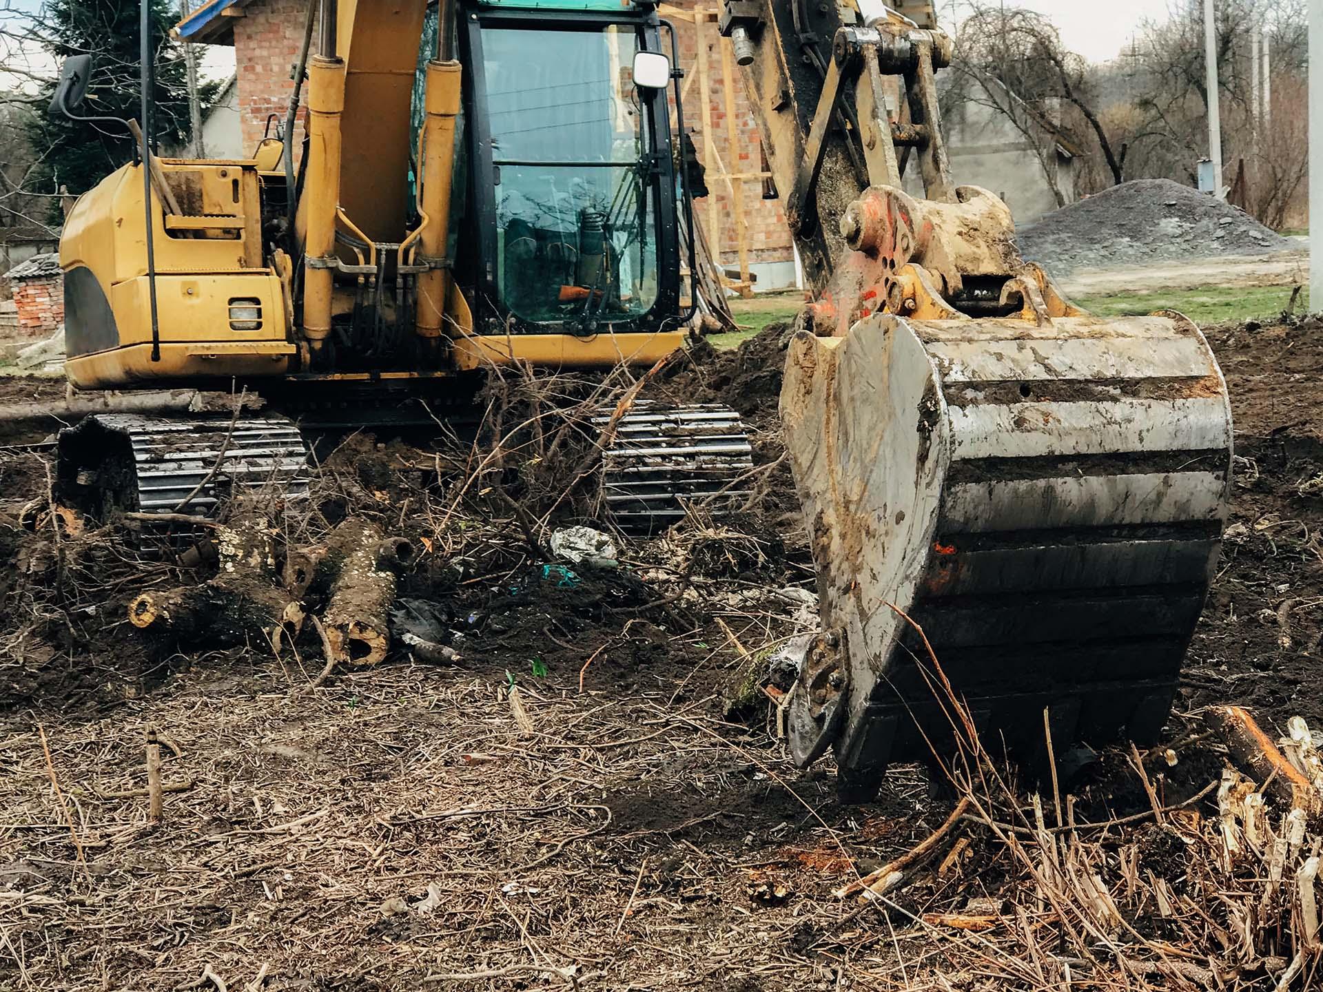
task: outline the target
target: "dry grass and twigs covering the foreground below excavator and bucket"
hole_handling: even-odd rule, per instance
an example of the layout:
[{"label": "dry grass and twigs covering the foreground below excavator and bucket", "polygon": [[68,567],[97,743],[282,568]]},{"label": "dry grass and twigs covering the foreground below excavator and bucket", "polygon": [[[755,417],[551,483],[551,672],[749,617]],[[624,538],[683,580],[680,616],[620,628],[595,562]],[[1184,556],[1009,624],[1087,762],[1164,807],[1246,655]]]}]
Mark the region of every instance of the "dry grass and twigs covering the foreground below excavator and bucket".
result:
[{"label": "dry grass and twigs covering the foreground below excavator and bucket", "polygon": [[544,413],[558,386],[511,389],[495,447],[347,448],[283,532],[318,540],[337,503],[426,537],[406,586],[482,618],[458,665],[397,652],[319,681],[308,631],[161,656],[123,599],[196,571],[120,529],[4,532],[0,988],[1318,985],[1314,812],[1224,771],[1199,725],[1176,765],[1118,749],[1074,795],[966,734],[946,799],[904,767],[844,808],[830,767],[789,762],[774,702],[726,708],[803,628],[778,591],[802,552],[696,516],[570,594],[538,586],[591,452]]}]

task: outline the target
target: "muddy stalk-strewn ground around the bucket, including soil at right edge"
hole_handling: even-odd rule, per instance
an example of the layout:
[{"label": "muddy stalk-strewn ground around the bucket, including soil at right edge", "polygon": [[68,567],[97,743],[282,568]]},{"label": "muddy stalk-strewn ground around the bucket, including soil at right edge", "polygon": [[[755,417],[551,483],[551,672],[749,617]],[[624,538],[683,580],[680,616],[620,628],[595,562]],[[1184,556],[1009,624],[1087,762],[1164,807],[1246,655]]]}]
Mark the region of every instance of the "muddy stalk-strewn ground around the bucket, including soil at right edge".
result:
[{"label": "muddy stalk-strewn ground around the bucket, including soil at right edge", "polygon": [[[1053,943],[1064,938],[1052,936],[1041,895],[1025,894],[1017,854],[978,824],[962,823],[941,868],[888,903],[833,895],[935,831],[953,800],[923,770],[901,767],[878,803],[841,807],[830,762],[800,772],[787,761],[770,701],[753,692],[736,702],[755,685],[751,656],[806,622],[796,590],[812,589],[777,438],[783,339],[773,327],[738,352],[700,347],[655,384],[662,397],[741,409],[763,468],[758,499],[726,524],[622,540],[614,567],[569,577],[545,567],[519,518],[492,496],[486,513],[464,509],[470,497],[456,497],[441,463],[413,446],[360,438],[328,460],[325,487],[352,512],[426,538],[402,594],[439,606],[459,659],[430,664],[397,651],[316,688],[311,634],[279,653],[144,640],[126,623],[126,603],[181,574],[123,542],[107,545],[95,577],[75,569],[53,594],[49,561],[33,557],[33,536],[16,522],[45,485],[44,456],[0,452],[11,561],[0,634],[0,988],[1212,983],[1200,970],[1230,952],[1213,938],[1216,951],[1197,943],[1201,922],[1147,929],[1151,895],[1140,885],[1122,899],[1114,880],[1134,849],[1144,878],[1193,893],[1191,852],[1204,843],[1184,821],[1179,836],[1142,821],[1150,800],[1121,751],[1081,787],[1078,815],[1139,821],[1102,828],[1097,848],[1081,850],[1106,865],[1098,872],[1143,939],[1196,947],[1177,955],[1193,971],[1122,968],[1062,985],[1060,966],[1037,955],[1078,958]],[[1323,325],[1220,327],[1209,339],[1232,390],[1236,487],[1224,561],[1166,734],[1179,761],[1151,766],[1171,803],[1216,783],[1224,762],[1191,743],[1188,714],[1199,708],[1248,702],[1273,730],[1294,714],[1323,726],[1314,677]],[[48,570],[40,589],[34,569]],[[148,730],[164,742],[159,824],[147,815]],[[1200,811],[1211,812],[1207,799],[1183,812]],[[1020,898],[1029,902],[1012,910]],[[991,913],[987,929],[951,922],[980,913]],[[1122,943],[1139,955],[1135,939]],[[1275,954],[1237,964],[1234,981],[1245,984],[1218,980],[1271,988],[1285,968]],[[1069,967],[1091,973],[1089,962]]]}]

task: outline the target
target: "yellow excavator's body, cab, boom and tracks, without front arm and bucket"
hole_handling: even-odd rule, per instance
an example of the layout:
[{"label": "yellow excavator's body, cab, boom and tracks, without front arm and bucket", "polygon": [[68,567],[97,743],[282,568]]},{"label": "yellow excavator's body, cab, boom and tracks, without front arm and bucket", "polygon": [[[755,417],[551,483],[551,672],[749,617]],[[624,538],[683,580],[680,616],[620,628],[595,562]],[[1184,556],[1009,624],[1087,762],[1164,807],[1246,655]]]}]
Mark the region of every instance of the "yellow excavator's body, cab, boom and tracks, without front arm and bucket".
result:
[{"label": "yellow excavator's body, cab, boom and tracks, without front arm and bucket", "polygon": [[[676,50],[648,0],[310,0],[283,140],[253,159],[157,156],[146,95],[147,127],[103,122],[139,147],[65,220],[70,384],[238,384],[266,410],[90,417],[61,434],[61,499],[205,509],[217,459],[229,483],[299,485],[300,426],[427,423],[496,365],[681,347]],[[142,65],[149,94],[146,48]],[[70,58],[52,112],[78,119],[91,73]],[[751,464],[720,407],[640,407],[614,438],[606,500],[627,524],[669,522]]]}]

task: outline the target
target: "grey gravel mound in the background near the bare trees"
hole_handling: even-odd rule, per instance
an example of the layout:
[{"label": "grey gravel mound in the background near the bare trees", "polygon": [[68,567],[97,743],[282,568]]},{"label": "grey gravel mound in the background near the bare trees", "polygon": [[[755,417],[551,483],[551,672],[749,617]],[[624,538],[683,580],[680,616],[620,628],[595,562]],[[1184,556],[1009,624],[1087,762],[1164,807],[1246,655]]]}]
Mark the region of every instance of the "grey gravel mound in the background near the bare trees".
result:
[{"label": "grey gravel mound in the background near the bare trees", "polygon": [[1295,247],[1244,210],[1167,179],[1139,179],[1070,204],[1017,233],[1052,275],[1154,259],[1266,255]]}]

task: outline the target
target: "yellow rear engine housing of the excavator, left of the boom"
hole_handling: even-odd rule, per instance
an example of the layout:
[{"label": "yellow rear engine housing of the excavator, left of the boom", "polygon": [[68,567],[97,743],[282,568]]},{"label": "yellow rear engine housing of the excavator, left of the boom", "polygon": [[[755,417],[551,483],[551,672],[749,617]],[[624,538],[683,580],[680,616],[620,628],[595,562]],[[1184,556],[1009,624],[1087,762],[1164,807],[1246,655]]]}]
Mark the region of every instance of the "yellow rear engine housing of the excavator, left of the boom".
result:
[{"label": "yellow rear engine housing of the excavator, left of the boom", "polygon": [[[79,389],[106,389],[286,372],[296,349],[280,279],[262,265],[253,163],[160,164],[180,209],[167,213],[160,196],[152,196],[160,361],[149,357],[143,173],[130,164],[79,197],[65,218],[60,262],[66,272],[69,380]],[[258,300],[261,327],[230,328],[234,299]],[[196,344],[205,344],[212,357],[198,354]]]}]

